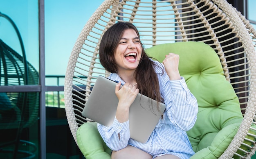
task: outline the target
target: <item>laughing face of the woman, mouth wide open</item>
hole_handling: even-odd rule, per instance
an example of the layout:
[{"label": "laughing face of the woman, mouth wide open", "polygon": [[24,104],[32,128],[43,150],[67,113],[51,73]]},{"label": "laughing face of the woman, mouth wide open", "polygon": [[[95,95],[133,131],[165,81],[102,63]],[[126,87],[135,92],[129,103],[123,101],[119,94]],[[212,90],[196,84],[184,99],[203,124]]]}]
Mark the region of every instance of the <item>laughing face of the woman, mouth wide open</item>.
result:
[{"label": "laughing face of the woman, mouth wide open", "polygon": [[127,29],[114,53],[117,72],[135,70],[141,59],[141,44],[135,30]]}]

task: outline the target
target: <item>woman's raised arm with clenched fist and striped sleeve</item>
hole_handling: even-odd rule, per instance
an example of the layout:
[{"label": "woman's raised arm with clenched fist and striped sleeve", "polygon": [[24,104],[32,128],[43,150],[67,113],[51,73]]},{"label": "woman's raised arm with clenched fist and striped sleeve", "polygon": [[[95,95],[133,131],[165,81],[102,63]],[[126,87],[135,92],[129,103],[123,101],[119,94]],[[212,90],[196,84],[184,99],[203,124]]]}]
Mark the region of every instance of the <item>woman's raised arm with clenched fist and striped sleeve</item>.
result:
[{"label": "woman's raised arm with clenched fist and striped sleeve", "polygon": [[198,104],[184,78],[180,76],[179,60],[179,55],[169,53],[163,61],[166,70],[163,75],[163,96],[170,121],[180,129],[188,131],[195,124]]}]

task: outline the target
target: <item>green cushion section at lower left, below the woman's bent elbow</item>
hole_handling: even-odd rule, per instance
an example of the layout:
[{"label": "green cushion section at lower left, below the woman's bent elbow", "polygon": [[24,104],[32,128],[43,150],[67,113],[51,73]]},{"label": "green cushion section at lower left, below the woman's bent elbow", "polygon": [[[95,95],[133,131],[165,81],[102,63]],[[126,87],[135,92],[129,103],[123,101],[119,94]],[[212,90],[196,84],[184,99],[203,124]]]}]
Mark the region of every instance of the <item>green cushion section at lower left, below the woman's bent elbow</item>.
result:
[{"label": "green cushion section at lower left, below the woman's bent elbow", "polygon": [[96,122],[82,124],[76,132],[79,149],[86,159],[111,159],[111,150],[105,144]]}]

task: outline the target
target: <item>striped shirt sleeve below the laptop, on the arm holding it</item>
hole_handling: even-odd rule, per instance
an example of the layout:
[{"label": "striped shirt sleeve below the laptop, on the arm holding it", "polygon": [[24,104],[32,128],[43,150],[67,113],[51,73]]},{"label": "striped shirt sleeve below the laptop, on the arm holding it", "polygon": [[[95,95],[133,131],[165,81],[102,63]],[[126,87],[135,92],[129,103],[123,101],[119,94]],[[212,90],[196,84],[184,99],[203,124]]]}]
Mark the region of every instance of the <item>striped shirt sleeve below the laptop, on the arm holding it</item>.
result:
[{"label": "striped shirt sleeve below the laptop, on the arm holding it", "polygon": [[128,145],[130,139],[129,120],[120,123],[115,118],[113,124],[108,127],[98,123],[98,131],[111,150],[121,150]]}]

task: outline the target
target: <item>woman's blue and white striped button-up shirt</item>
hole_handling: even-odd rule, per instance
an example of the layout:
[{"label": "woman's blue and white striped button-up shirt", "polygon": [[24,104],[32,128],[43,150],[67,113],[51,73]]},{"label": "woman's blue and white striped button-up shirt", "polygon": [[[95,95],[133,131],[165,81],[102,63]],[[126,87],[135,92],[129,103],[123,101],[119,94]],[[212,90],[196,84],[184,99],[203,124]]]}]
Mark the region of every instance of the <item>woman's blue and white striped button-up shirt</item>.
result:
[{"label": "woman's blue and white striped button-up shirt", "polygon": [[[164,70],[162,63],[155,62]],[[148,141],[142,144],[130,138],[129,120],[119,123],[115,118],[113,124],[108,127],[98,124],[99,133],[107,146],[115,151],[131,145],[148,152],[153,158],[172,154],[181,159],[189,159],[195,152],[192,150],[186,131],[195,124],[198,113],[197,101],[189,91],[183,77],[181,80],[170,81],[165,71],[162,74],[161,68],[155,67],[155,72],[158,76],[160,93],[164,98],[166,111]],[[118,74],[110,74],[109,78],[125,83]]]}]

